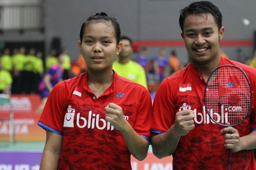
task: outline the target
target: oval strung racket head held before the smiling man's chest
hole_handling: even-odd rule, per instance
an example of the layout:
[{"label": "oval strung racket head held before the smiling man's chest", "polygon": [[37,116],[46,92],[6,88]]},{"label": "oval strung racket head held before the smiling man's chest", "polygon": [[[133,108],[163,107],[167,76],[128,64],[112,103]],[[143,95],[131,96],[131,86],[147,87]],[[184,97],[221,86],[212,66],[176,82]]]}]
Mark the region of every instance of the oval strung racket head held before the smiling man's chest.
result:
[{"label": "oval strung racket head held before the smiling man's chest", "polygon": [[206,82],[204,104],[218,125],[236,126],[245,121],[252,106],[251,83],[245,72],[235,65],[215,68]]}]

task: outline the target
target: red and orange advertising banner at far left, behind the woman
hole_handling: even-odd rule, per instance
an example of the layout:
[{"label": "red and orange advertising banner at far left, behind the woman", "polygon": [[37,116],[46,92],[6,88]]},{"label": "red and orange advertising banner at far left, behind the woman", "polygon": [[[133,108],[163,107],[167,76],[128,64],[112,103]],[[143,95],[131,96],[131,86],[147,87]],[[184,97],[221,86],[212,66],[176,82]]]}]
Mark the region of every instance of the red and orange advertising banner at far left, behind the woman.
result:
[{"label": "red and orange advertising banner at far left, behind the woman", "polygon": [[10,105],[0,105],[0,136],[8,136],[7,119],[13,112],[15,141],[45,141],[46,133],[37,125],[41,116],[36,112],[41,104],[39,95],[11,95],[10,102]]}]

